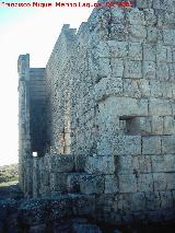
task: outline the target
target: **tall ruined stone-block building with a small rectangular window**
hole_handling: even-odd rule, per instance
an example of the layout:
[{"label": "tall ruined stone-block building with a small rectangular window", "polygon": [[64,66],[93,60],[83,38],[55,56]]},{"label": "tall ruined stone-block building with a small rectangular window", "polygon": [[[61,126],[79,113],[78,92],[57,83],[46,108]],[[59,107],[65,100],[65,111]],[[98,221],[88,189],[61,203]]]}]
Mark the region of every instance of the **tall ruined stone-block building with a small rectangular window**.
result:
[{"label": "tall ruined stone-block building with a small rectangular window", "polygon": [[46,68],[19,57],[25,196],[114,224],[175,210],[174,1],[132,2],[63,25]]}]

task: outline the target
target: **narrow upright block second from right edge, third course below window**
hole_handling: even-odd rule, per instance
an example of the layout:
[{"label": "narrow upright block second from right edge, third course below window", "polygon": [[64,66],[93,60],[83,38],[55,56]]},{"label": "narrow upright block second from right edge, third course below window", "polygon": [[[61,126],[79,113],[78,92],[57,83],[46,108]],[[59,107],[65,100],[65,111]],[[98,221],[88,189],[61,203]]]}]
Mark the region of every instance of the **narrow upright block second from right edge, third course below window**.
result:
[{"label": "narrow upright block second from right edge, third course below window", "polygon": [[167,187],[166,175],[164,173],[154,173],[153,183],[155,191],[164,191]]}]

